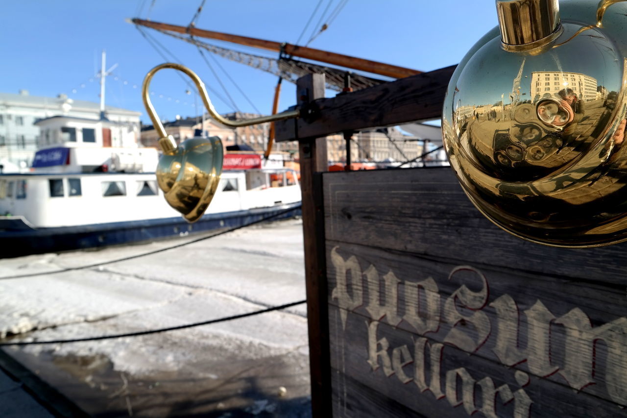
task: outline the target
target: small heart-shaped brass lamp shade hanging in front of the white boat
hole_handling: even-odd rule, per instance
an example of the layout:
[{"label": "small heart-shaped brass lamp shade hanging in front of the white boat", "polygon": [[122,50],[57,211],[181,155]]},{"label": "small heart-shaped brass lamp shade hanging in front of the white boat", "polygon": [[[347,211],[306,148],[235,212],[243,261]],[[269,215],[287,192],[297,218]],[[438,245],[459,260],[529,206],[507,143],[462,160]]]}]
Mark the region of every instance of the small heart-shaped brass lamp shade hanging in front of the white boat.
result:
[{"label": "small heart-shaped brass lamp shade hanging in front of the white boat", "polygon": [[222,173],[223,153],[222,141],[214,136],[187,139],[159,158],[159,187],[167,203],[188,222],[202,217],[211,203]]}]

